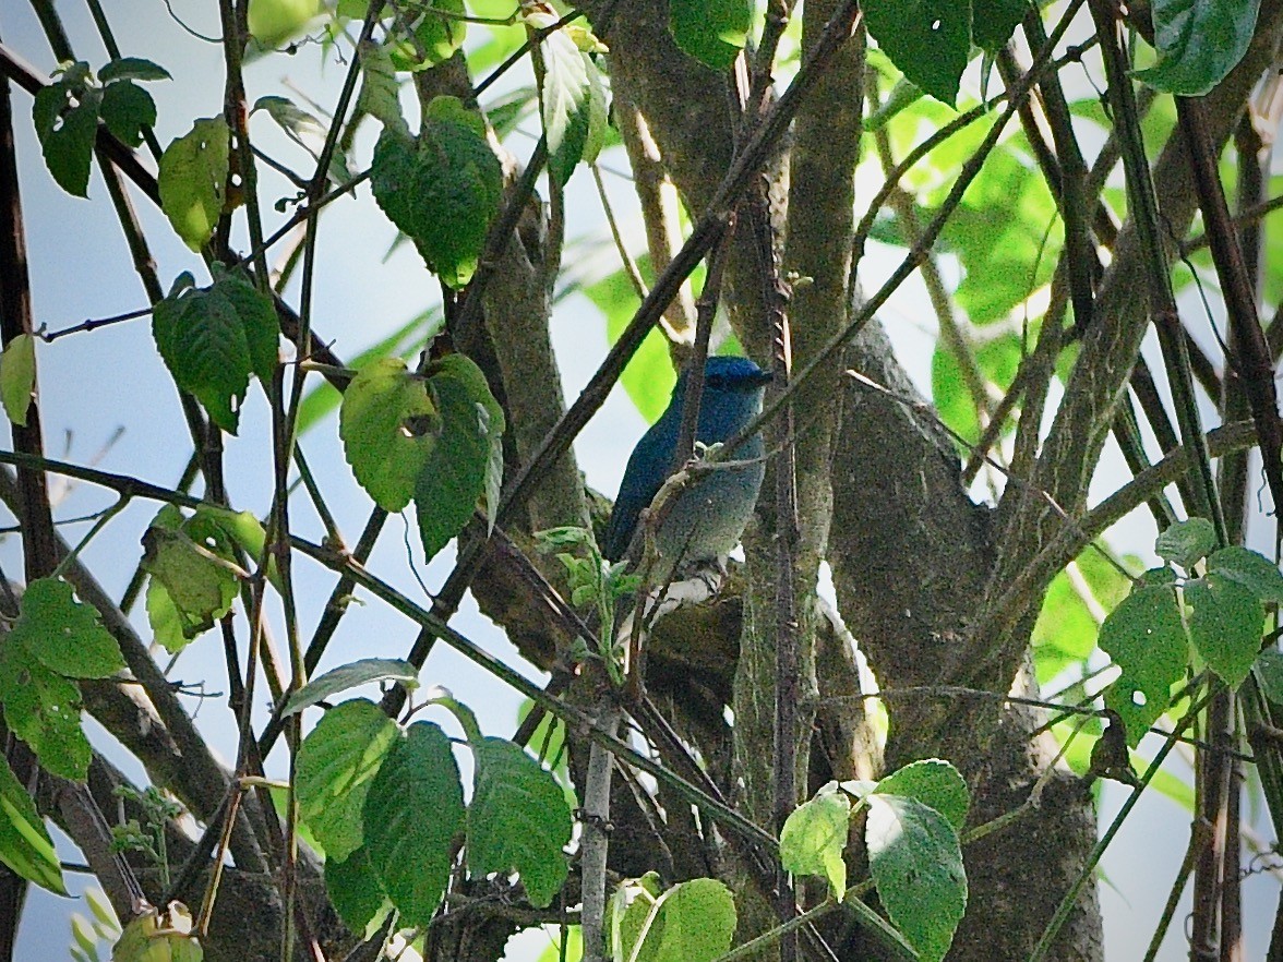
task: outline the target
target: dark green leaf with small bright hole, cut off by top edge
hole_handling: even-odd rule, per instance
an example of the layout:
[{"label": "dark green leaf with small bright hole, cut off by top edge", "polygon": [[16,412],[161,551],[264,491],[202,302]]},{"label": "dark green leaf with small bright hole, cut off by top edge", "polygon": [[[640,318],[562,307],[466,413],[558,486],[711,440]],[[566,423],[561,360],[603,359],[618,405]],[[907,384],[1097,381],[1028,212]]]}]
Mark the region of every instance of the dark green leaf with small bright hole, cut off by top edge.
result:
[{"label": "dark green leaf with small bright hole, cut off by top edge", "polygon": [[903,74],[949,106],[971,53],[971,5],[956,0],[865,0],[869,32]]}]

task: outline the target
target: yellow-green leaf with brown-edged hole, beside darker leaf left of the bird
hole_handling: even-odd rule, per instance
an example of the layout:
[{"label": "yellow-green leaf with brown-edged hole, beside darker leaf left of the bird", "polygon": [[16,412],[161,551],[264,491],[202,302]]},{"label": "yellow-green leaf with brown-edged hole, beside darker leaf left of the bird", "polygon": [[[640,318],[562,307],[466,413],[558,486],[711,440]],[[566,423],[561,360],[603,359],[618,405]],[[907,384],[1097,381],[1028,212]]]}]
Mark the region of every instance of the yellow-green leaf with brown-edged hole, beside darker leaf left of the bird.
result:
[{"label": "yellow-green leaf with brown-edged hole, beside darker leaf left of the bird", "polygon": [[384,511],[409,504],[443,431],[427,380],[411,373],[400,358],[367,364],[343,394],[339,436],[344,457]]}]

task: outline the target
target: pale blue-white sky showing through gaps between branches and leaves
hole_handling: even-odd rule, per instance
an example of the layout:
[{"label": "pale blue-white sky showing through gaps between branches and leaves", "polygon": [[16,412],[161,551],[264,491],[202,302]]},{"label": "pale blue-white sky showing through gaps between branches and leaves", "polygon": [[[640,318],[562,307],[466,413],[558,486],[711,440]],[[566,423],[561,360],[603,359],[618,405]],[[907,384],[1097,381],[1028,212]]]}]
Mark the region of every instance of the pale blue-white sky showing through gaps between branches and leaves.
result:
[{"label": "pale blue-white sky showing through gaps between branches and leaves", "polygon": [[[162,145],[183,133],[194,117],[212,117],[221,110],[222,63],[217,46],[194,40],[167,13],[162,0],[108,0],[104,6],[127,54],[150,58],[173,73],[172,81],[149,85],[159,106],[157,133]],[[207,0],[173,0],[172,6],[174,14],[192,30],[209,35],[218,32],[214,4]],[[78,55],[94,67],[101,65],[106,54],[96,40],[85,10],[77,4],[63,3],[60,12]],[[0,37],[40,69],[47,72],[53,68],[38,24],[26,4],[5,0],[0,5]],[[246,72],[249,97],[254,100],[275,94],[298,99],[296,91],[302,90],[319,103],[332,103],[343,69],[344,64],[332,56],[325,60],[314,46],[305,46],[293,58],[268,58],[251,64]],[[517,76],[511,82],[530,81],[529,77]],[[500,92],[502,89],[497,91]],[[24,122],[30,117],[30,97],[15,91],[14,103],[19,121],[17,137],[22,200],[37,323],[58,330],[86,318],[101,318],[144,307],[141,285],[128,260],[98,173],[94,173],[90,182],[89,201],[64,194],[45,172],[38,144],[30,123]],[[527,123],[525,131],[532,133],[534,127]],[[299,168],[305,167],[307,158],[302,151],[275,133],[266,118],[254,118],[251,133],[268,151]],[[532,144],[532,136],[523,137],[518,133],[509,139],[508,146],[517,153],[529,153]],[[358,168],[368,159],[370,146],[368,139],[358,144]],[[625,163],[622,158],[608,154],[603,158],[603,165],[622,169]],[[636,203],[631,186],[611,173],[607,173],[606,182],[620,219],[631,224],[627,237],[636,250],[640,248],[640,235],[636,230]],[[277,196],[291,194],[293,189],[281,178],[264,174],[266,209],[271,209],[271,201]],[[135,200],[146,236],[151,241],[162,282],[168,285],[182,271],[192,271],[198,282],[201,282],[204,272],[199,259],[173,237],[167,222],[149,201],[137,195]],[[576,257],[591,258],[608,251],[606,221],[591,178],[582,168],[570,183],[568,207],[576,214],[572,230],[577,233],[572,240],[582,242]],[[314,326],[319,336],[332,342],[340,357],[354,357],[367,345],[377,342],[436,298],[435,280],[411,245],[400,245],[389,254],[394,236],[394,228],[371,201],[367,189],[358,191],[355,200],[335,203],[323,218],[316,274]],[[865,277],[866,286],[875,285],[880,274],[889,273],[897,259],[897,255],[884,249],[872,250],[866,262],[870,272]],[[296,283],[286,296],[296,303]],[[881,319],[910,375],[928,391],[934,322],[916,277],[893,299]],[[584,298],[571,296],[558,304],[552,335],[570,400],[586,384],[607,350],[604,325],[597,309]],[[166,486],[176,484],[189,457],[190,440],[174,403],[174,387],[155,353],[146,319],[113,325],[92,333],[41,345],[38,363],[41,416],[46,449],[51,457],[78,463],[94,462],[103,469],[136,475]],[[616,390],[575,446],[580,468],[591,486],[613,494],[629,450],[644,427],[627,398],[621,390]],[[239,436],[227,439],[227,459],[232,504],[257,514],[263,514],[271,494],[267,439],[267,404],[262,391],[254,387],[242,413]],[[0,440],[0,444],[8,444],[8,439]],[[309,432],[303,439],[303,446],[310,464],[318,471],[321,487],[331,498],[340,528],[354,541],[371,504],[346,468],[334,418]],[[1121,468],[1116,454],[1110,455],[1101,473],[1103,477],[1098,485],[1103,490],[1119,482]],[[99,511],[112,500],[105,493],[87,485],[76,485],[62,494],[56,513],[63,518]],[[119,594],[123,590],[141,550],[139,537],[155,508],[151,504],[130,507],[86,548],[85,561],[110,591]],[[304,536],[317,537],[322,534],[319,525],[307,511],[295,508],[295,518]],[[387,525],[370,567],[411,598],[425,600],[422,589],[411,572],[412,566],[422,566],[417,550],[407,546],[407,541],[413,544],[417,540],[413,521],[408,525],[408,535],[404,534],[407,528],[402,521],[394,518]],[[1147,545],[1152,541],[1152,531],[1146,532],[1144,521],[1130,525],[1116,532],[1121,541],[1129,545]],[[63,528],[64,536],[72,541],[85,531],[83,525]],[[453,554],[446,550],[420,572],[430,589],[441,582],[452,562]],[[9,577],[21,571],[17,539],[6,537],[0,541],[0,566]],[[316,570],[308,571],[305,564],[300,564],[302,611],[319,612],[331,584],[328,576]],[[312,622],[314,617],[304,625],[304,631]],[[453,625],[488,650],[518,666],[530,677],[539,679],[539,673],[517,657],[503,634],[480,616],[471,603]],[[145,630],[145,623],[140,622],[140,627]],[[413,631],[399,617],[367,599],[366,604],[344,620],[322,668],[362,657],[400,657],[412,639]],[[223,691],[225,668],[213,634],[199,639],[182,654],[174,675],[189,681],[205,679],[209,694]],[[520,699],[444,646],[438,646],[432,653],[422,681],[425,685],[445,685],[457,698],[472,705],[486,734],[511,734]],[[234,726],[225,702],[218,698],[199,703],[192,700],[190,708],[198,713],[198,722],[214,747],[225,758],[231,759],[235,753]],[[434,720],[444,721],[435,716]],[[92,723],[90,729],[96,731]],[[105,736],[96,741],[109,745]],[[108,750],[113,759],[124,764],[127,773],[141,775],[122,752],[110,745]],[[272,764],[280,766],[281,758],[280,754],[275,757]],[[1116,811],[1120,799],[1120,791],[1112,786],[1106,788],[1103,820]],[[1106,853],[1101,899],[1106,908],[1110,959],[1138,958],[1143,950],[1183,854],[1185,831],[1185,820],[1173,803],[1155,794],[1142,800]],[[64,848],[64,853],[73,857],[71,849]],[[1268,920],[1273,915],[1275,890],[1277,885],[1273,882],[1250,884],[1246,917]],[[35,961],[60,957],[69,941],[68,912],[87,909],[76,900],[59,899],[38,890],[32,893],[30,906],[21,935],[19,958]],[[1178,921],[1184,911],[1178,915]],[[1259,957],[1264,952],[1262,932],[1268,932],[1268,929],[1259,927],[1252,932],[1248,957]],[[541,936],[527,938],[514,947],[509,954],[512,962],[531,958],[540,939]],[[1166,962],[1183,954],[1183,938],[1177,925],[1160,958]]]}]

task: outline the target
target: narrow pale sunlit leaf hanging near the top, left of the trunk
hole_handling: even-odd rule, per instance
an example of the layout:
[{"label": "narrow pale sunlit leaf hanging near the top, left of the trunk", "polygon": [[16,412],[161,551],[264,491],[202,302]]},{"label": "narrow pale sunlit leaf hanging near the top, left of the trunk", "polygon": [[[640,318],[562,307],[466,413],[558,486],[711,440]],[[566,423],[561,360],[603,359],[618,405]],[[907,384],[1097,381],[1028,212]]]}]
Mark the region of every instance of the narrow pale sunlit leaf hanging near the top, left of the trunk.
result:
[{"label": "narrow pale sunlit leaf hanging near the top, left of the trunk", "polygon": [[[552,27],[558,17],[535,9],[525,14],[525,21],[540,30]],[[565,31],[545,36],[539,51],[544,58],[541,113],[548,139],[548,172],[565,186],[584,156],[593,127],[591,85],[597,64]]]}]

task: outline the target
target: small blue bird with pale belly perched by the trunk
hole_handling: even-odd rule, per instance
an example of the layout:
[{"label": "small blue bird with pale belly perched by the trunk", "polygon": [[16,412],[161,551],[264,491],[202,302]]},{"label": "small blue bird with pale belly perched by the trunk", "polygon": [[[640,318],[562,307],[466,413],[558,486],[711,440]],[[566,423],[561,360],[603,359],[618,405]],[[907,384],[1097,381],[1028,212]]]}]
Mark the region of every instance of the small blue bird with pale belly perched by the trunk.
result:
[{"label": "small blue bird with pale belly perched by the trunk", "polygon": [[[734,437],[762,409],[762,392],[770,380],[770,373],[747,358],[708,358],[695,440],[712,445]],[[618,561],[627,552],[638,517],[674,468],[685,394],[686,373],[683,372],[667,409],[633,449],[606,531],[604,554],[611,561]],[[713,469],[681,493],[656,536],[667,567],[667,571],[661,568],[662,576],[671,571],[668,566],[679,562],[725,562],[739,544],[757,504],[765,471],[762,453],[762,436],[756,434],[729,451],[730,460],[752,463]]]}]

